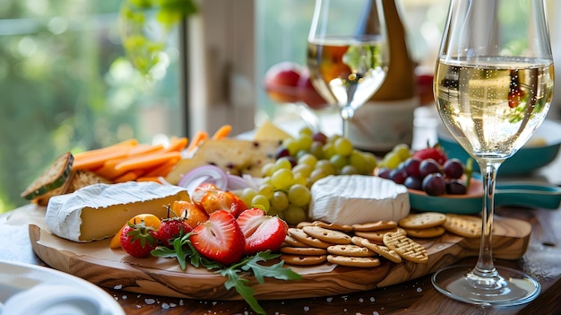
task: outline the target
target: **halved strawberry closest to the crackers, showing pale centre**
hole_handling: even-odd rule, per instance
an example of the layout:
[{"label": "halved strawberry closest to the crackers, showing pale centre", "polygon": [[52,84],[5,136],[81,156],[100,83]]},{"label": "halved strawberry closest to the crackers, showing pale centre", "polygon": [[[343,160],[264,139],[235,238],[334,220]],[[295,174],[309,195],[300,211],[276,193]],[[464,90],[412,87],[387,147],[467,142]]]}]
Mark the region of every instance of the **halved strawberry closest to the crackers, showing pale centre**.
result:
[{"label": "halved strawberry closest to the crackers, showing pale centre", "polygon": [[288,224],[278,216],[267,215],[258,208],[247,209],[239,214],[237,224],[246,237],[247,255],[279,249],[289,231]]}]

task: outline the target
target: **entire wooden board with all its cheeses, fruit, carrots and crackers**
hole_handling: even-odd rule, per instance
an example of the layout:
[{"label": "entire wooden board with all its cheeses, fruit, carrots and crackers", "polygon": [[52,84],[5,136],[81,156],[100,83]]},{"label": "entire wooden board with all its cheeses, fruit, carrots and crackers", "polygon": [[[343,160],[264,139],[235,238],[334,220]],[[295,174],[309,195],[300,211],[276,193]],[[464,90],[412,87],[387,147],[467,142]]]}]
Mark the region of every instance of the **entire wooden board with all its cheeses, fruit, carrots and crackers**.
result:
[{"label": "entire wooden board with all its cheeses, fruit, carrots and crackers", "polygon": [[[257,312],[258,300],[370,290],[478,255],[479,216],[418,212],[410,202],[410,189],[465,194],[469,164],[437,147],[398,145],[379,158],[341,136],[266,126],[253,140],[228,138],[222,127],[190,144],[132,139],[65,153],[30,185],[32,203],[18,214],[29,220],[32,248],[100,286],[244,299]],[[95,180],[53,190],[78,171]],[[430,178],[422,186],[407,178],[421,175]],[[493,233],[495,257],[517,259],[531,225],[496,218]]]}]

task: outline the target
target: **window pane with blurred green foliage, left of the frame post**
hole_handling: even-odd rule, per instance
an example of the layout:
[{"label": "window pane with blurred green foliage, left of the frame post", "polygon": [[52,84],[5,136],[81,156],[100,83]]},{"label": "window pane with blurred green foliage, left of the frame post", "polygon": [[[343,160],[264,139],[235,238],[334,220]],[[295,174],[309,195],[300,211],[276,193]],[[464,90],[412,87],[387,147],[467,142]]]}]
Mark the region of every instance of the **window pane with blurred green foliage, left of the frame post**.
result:
[{"label": "window pane with blurred green foliage, left of the frame post", "polygon": [[[7,0],[0,6],[0,213],[65,151],[185,135],[177,43],[153,85],[125,59],[120,1]],[[176,40],[177,41],[177,40]]]}]

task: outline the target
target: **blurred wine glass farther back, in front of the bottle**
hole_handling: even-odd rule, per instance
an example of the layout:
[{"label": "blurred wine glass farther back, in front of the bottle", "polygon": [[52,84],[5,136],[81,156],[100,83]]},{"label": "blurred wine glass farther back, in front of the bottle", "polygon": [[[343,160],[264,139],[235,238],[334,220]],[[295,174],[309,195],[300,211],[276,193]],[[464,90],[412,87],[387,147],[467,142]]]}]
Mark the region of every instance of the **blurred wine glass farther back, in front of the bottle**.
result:
[{"label": "blurred wine glass farther back, in front of the bottle", "polygon": [[316,0],[306,61],[317,92],[341,109],[343,136],[349,136],[355,110],[387,73],[381,1]]}]

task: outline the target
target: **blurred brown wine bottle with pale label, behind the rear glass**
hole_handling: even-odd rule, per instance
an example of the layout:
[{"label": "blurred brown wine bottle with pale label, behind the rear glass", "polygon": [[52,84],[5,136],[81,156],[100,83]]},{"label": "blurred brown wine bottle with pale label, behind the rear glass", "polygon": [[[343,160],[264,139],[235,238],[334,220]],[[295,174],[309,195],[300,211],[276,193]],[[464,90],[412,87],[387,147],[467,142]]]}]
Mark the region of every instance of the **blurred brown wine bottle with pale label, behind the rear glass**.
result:
[{"label": "blurred brown wine bottle with pale label, behind the rear glass", "polygon": [[[395,144],[411,144],[413,113],[419,105],[415,66],[410,57],[406,31],[395,0],[383,0],[389,64],[384,83],[357,109],[350,124],[350,140],[358,148],[386,153]],[[370,12],[368,17],[376,12]],[[368,27],[368,21],[365,26]]]}]

